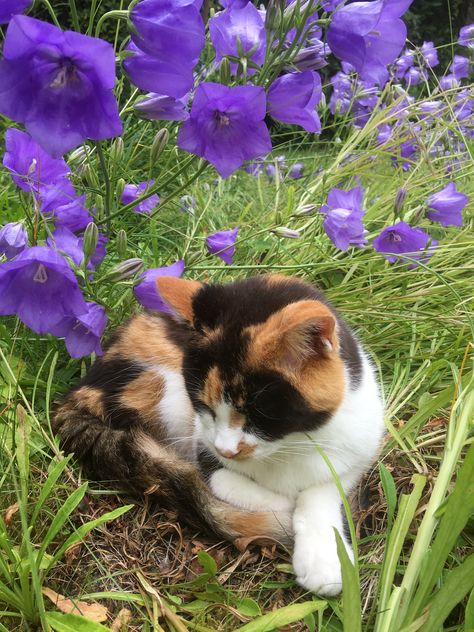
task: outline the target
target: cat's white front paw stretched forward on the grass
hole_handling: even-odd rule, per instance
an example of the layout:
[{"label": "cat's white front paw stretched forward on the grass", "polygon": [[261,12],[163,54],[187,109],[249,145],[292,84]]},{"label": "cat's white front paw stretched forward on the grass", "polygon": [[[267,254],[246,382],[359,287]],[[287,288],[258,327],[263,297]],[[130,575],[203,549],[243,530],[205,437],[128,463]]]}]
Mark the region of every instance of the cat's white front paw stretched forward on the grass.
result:
[{"label": "cat's white front paw stretched forward on the grass", "polygon": [[[352,558],[352,551],[346,548]],[[333,597],[342,590],[341,564],[331,532],[296,534],[293,568],[298,584],[317,595]]]}]

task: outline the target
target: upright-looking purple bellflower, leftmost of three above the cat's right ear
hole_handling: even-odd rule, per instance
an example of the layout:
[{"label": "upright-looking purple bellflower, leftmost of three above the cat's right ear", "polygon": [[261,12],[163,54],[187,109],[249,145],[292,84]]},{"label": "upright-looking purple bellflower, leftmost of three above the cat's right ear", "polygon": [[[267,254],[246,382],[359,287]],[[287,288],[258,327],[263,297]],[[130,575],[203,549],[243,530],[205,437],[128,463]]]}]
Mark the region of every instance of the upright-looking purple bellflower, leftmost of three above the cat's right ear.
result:
[{"label": "upright-looking purple bellflower, leftmost of three above the cat's right ear", "polygon": [[326,215],[323,228],[336,248],[348,250],[350,246],[363,248],[367,244],[367,231],[362,224],[362,187],[349,191],[332,189],[328,194],[328,203],[321,207]]}]

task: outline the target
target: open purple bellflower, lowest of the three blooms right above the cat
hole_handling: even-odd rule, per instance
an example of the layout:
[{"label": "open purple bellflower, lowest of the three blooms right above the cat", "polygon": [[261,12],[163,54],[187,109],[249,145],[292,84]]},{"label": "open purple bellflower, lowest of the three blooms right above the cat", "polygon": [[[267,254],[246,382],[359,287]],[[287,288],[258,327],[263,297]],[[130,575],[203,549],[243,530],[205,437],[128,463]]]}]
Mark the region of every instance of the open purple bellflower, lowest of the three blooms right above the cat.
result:
[{"label": "open purple bellflower, lowest of the three blooms right above the cat", "polygon": [[[430,246],[427,248],[429,243]],[[375,250],[382,253],[390,263],[399,259],[397,254],[406,254],[412,259],[425,262],[433,254],[433,249],[437,244],[438,242],[431,239],[424,230],[412,228],[405,222],[397,222],[393,226],[384,228],[373,243]],[[413,268],[415,265],[410,264],[409,267]]]}]

